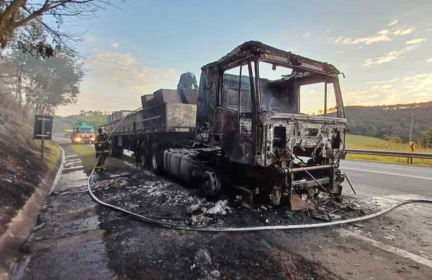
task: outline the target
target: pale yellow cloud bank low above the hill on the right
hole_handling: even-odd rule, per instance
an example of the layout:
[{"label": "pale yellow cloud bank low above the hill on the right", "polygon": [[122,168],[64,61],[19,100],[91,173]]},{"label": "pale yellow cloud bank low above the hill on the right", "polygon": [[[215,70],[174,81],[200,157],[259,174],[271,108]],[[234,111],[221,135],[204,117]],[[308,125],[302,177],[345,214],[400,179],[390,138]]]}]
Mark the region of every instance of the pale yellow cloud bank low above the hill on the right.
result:
[{"label": "pale yellow cloud bank low above the hill on the right", "polygon": [[432,72],[367,82],[367,89],[343,90],[346,104],[396,104],[430,101]]}]

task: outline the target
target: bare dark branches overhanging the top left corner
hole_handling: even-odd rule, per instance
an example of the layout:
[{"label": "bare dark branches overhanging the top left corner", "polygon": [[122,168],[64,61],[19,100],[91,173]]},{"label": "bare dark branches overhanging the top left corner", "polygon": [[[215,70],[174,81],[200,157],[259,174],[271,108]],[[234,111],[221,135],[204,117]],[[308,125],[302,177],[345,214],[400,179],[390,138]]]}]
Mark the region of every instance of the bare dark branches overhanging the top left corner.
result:
[{"label": "bare dark branches overhanging the top left corner", "polygon": [[[4,49],[17,29],[25,34],[35,30],[47,33],[56,46],[69,48],[71,41],[79,40],[79,34],[63,30],[66,18],[86,19],[96,11],[124,0],[0,0],[0,46]],[[45,18],[53,19],[45,21]],[[47,23],[52,22],[52,23]],[[46,40],[23,41],[24,51],[36,51],[46,57],[52,56],[53,47]],[[76,53],[75,53],[76,54]]]}]

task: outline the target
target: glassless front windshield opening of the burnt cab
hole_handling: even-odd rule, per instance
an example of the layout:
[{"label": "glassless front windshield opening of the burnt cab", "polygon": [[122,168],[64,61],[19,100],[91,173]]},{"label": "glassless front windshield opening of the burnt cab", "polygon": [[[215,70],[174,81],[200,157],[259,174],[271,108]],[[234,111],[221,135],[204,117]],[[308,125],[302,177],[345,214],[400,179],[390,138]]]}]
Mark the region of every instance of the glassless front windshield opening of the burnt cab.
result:
[{"label": "glassless front windshield opening of the burnt cab", "polygon": [[[263,64],[265,63],[265,64]],[[327,116],[328,113],[332,117],[344,117],[342,96],[339,87],[339,79],[337,76],[328,75],[321,72],[312,71],[310,69],[295,68],[280,61],[273,61],[268,59],[258,59],[256,61],[257,75],[256,83],[257,100],[259,100],[258,108],[263,112],[277,112],[277,113],[290,113],[290,114],[304,114],[315,116]],[[269,72],[263,65],[272,66],[272,70],[284,70],[279,78],[275,77],[275,73]],[[273,76],[272,76],[273,75]],[[272,76],[275,79],[267,78]],[[311,114],[301,111],[301,97],[303,94],[303,85],[312,85],[322,83],[322,104],[319,111]],[[328,90],[328,85],[333,84],[333,90]],[[331,88],[331,87],[330,87]],[[331,96],[329,94],[334,94]],[[336,104],[332,104],[331,108],[327,106],[329,96],[335,100]]]}]

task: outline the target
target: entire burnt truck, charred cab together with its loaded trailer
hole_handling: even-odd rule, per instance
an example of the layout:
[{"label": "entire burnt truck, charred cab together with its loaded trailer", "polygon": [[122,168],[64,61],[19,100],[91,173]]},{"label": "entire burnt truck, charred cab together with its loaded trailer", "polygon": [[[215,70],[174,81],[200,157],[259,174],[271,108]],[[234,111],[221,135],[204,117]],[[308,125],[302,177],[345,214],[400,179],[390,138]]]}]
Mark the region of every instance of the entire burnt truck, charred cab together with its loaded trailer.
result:
[{"label": "entire burnt truck, charred cab together with its loaded trailer", "polygon": [[[113,146],[208,197],[240,192],[249,203],[290,205],[301,195],[341,195],[347,120],[335,66],[249,41],[201,69],[199,90],[177,90],[167,102],[144,95]],[[148,114],[155,109],[161,113]]]}]

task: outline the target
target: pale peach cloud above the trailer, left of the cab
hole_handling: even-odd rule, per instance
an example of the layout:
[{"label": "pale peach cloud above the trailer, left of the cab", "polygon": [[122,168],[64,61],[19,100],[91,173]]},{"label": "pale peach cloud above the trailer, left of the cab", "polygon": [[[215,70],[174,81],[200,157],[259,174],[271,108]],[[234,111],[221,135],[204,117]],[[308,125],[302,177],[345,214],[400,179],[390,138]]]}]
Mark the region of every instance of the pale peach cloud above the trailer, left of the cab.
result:
[{"label": "pale peach cloud above the trailer, left of the cab", "polygon": [[96,50],[88,67],[92,77],[124,87],[124,91],[142,94],[167,86],[167,81],[177,81],[180,76],[175,69],[142,65],[129,53],[109,50]]}]

